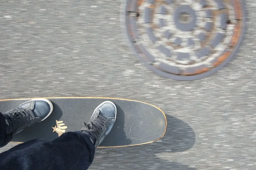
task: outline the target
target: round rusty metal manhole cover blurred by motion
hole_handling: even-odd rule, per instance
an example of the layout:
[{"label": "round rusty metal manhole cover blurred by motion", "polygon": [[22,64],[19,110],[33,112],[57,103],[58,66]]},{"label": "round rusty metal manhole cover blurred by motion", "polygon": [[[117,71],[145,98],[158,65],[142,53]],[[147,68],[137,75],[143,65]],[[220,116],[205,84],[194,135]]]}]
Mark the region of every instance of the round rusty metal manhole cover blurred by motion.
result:
[{"label": "round rusty metal manhole cover blurred by motion", "polygon": [[241,0],[127,0],[125,24],[132,47],[151,70],[195,80],[234,56],[245,11]]}]

